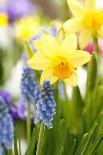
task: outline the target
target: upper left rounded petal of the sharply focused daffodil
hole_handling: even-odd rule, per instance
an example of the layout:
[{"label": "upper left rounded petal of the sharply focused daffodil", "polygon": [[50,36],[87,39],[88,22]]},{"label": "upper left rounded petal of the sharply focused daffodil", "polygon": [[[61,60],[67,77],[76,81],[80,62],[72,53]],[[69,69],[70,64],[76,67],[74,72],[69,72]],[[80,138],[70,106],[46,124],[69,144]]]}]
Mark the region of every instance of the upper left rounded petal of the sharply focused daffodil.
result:
[{"label": "upper left rounded petal of the sharply focused daffodil", "polygon": [[34,42],[34,46],[38,51],[43,52],[46,56],[54,58],[59,48],[59,44],[55,37],[50,35],[42,35],[42,37]]}]

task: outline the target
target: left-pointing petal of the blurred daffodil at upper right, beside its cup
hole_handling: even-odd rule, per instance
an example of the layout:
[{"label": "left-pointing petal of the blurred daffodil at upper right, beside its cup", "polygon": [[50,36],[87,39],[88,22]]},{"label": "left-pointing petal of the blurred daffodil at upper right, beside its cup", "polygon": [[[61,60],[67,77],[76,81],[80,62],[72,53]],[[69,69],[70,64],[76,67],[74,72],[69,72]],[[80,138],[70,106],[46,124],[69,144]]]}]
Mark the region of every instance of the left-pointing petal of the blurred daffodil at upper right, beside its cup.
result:
[{"label": "left-pointing petal of the blurred daffodil at upper right, beside its cup", "polygon": [[82,27],[83,19],[79,17],[69,19],[63,25],[64,31],[67,33],[78,32],[82,29]]}]

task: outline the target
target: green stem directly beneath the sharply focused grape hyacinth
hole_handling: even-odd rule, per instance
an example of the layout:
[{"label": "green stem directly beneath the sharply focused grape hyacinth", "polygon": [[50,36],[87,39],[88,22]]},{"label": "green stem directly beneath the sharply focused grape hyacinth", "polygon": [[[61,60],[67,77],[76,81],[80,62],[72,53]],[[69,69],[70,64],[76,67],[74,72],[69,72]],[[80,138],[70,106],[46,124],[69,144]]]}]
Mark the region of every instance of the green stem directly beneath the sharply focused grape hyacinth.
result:
[{"label": "green stem directly beneath the sharply focused grape hyacinth", "polygon": [[41,154],[42,140],[43,140],[43,137],[44,137],[44,130],[45,130],[45,127],[44,127],[43,123],[41,123],[36,155]]}]

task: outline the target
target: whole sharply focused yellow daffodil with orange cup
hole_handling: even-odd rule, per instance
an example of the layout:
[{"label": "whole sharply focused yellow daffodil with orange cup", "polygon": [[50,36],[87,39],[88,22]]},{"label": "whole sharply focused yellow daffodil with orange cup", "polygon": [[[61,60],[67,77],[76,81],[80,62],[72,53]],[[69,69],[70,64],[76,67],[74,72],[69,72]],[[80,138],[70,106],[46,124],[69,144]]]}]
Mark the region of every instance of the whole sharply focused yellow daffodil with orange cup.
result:
[{"label": "whole sharply focused yellow daffodil with orange cup", "polygon": [[[61,31],[61,33],[63,33]],[[60,39],[59,39],[60,36]],[[40,83],[49,80],[51,84],[58,79],[68,84],[77,85],[76,68],[87,63],[91,56],[86,51],[77,50],[77,37],[69,34],[61,40],[62,34],[52,37],[42,35],[35,41],[37,52],[28,61],[32,69],[42,70]]]}]

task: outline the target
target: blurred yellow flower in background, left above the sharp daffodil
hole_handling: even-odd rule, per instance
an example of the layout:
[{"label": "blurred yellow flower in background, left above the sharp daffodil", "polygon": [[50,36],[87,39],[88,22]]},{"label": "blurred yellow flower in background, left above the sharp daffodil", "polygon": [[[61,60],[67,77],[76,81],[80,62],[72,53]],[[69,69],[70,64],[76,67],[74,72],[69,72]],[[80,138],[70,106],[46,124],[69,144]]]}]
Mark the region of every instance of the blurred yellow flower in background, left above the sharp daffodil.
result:
[{"label": "blurred yellow flower in background, left above the sharp daffodil", "polygon": [[38,33],[40,28],[40,17],[25,17],[15,22],[16,38],[25,41]]}]

